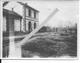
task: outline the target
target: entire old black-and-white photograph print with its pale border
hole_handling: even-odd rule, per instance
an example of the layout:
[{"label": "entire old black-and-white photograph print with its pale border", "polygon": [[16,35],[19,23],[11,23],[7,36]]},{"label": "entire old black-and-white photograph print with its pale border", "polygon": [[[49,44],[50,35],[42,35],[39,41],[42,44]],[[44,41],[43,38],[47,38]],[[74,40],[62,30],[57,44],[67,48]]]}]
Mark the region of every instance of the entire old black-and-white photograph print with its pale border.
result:
[{"label": "entire old black-and-white photograph print with its pale border", "polygon": [[79,0],[2,1],[3,59],[78,57]]}]

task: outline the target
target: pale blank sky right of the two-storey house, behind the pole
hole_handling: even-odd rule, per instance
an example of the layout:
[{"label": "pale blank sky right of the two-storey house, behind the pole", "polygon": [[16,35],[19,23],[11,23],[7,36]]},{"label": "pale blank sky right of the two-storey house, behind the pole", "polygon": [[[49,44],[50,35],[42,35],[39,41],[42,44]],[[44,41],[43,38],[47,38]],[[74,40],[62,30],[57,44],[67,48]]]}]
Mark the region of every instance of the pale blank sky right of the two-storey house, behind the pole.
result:
[{"label": "pale blank sky right of the two-storey house, behind the pole", "polygon": [[[39,10],[39,24],[41,24],[54,10],[59,11],[53,16],[46,25],[51,27],[72,26],[79,19],[78,1],[25,1],[31,7]],[[25,3],[23,1],[23,3]],[[14,3],[8,4],[6,8],[15,7]],[[18,13],[20,8],[16,9]]]}]

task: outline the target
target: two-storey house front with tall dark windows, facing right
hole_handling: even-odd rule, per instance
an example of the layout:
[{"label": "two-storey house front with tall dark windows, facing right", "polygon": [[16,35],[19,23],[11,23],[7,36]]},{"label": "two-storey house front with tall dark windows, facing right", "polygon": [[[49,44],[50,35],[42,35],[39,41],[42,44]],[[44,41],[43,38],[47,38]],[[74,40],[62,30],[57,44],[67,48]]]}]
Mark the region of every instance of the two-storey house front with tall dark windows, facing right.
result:
[{"label": "two-storey house front with tall dark windows, facing right", "polygon": [[23,32],[31,32],[38,26],[39,22],[39,11],[28,6],[27,4],[23,5]]}]

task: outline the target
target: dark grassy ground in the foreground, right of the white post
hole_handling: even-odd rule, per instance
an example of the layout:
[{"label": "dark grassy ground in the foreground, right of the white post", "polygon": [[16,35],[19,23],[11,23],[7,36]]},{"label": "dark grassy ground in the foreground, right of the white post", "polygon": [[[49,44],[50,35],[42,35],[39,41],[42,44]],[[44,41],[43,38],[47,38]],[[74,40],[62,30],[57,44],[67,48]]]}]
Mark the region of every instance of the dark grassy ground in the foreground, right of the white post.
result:
[{"label": "dark grassy ground in the foreground, right of the white post", "polygon": [[63,55],[69,55],[72,57],[76,57],[77,41],[75,38],[75,36],[72,36],[71,38],[66,37],[60,40],[54,39],[53,36],[39,36],[38,38],[31,40],[30,42],[22,46],[22,56],[32,57],[34,55],[38,55],[39,57],[60,57]]}]

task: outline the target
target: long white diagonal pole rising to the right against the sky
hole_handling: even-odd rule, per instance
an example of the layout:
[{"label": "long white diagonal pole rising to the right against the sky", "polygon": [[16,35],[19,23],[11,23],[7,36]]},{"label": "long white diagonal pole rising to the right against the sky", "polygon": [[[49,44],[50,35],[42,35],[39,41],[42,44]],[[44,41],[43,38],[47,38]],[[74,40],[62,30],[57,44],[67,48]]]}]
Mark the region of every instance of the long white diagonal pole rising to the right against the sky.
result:
[{"label": "long white diagonal pole rising to the right against the sky", "polygon": [[56,13],[58,12],[58,9],[56,8],[48,17],[47,19],[45,19],[43,21],[43,23],[38,26],[35,30],[33,30],[30,34],[26,35],[26,37],[21,41],[19,42],[17,45],[20,46],[20,45],[24,45],[28,40],[29,38],[31,38],[36,32],[38,32]]}]

